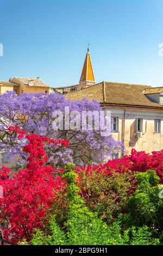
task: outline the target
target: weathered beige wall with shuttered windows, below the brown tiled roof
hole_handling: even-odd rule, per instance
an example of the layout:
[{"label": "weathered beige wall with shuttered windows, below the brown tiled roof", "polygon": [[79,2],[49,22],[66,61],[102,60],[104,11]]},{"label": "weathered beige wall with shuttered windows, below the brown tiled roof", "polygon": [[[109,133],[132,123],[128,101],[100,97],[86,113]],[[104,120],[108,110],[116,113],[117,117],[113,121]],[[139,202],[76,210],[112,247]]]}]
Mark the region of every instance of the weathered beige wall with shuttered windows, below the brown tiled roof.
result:
[{"label": "weathered beige wall with shuttered windows, below the brown tiled roof", "polygon": [[[147,153],[163,149],[162,111],[118,107],[109,110],[116,123],[112,136],[123,142],[124,154],[130,154],[132,148]],[[117,157],[122,155],[123,152],[117,152]]]}]

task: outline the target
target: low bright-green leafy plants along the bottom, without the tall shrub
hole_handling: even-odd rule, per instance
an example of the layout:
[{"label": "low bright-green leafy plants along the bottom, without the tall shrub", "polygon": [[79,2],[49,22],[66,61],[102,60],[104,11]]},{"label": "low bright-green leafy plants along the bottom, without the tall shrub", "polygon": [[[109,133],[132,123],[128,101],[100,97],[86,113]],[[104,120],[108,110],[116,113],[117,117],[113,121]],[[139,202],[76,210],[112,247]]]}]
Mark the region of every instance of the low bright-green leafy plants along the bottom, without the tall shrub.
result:
[{"label": "low bright-green leafy plants along the bottom, without the tall shrub", "polygon": [[[82,217],[84,219],[84,217]],[[93,218],[89,227],[82,218],[69,222],[69,233],[61,230],[54,216],[49,223],[48,233],[37,230],[32,245],[158,245],[158,239],[152,239],[148,227],[128,228],[122,231],[121,225],[114,222],[110,227],[101,219]],[[87,223],[88,224],[88,223]],[[27,242],[22,242],[27,244]]]}]

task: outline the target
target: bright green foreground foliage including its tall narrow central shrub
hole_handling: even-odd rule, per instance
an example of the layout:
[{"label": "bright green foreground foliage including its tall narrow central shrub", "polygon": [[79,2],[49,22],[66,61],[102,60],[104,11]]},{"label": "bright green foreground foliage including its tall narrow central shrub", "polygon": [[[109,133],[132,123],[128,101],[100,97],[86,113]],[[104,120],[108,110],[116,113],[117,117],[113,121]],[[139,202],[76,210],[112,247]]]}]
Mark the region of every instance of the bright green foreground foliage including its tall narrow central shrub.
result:
[{"label": "bright green foreground foliage including its tall narrow central shrub", "polygon": [[63,177],[68,183],[66,199],[68,201],[68,218],[61,229],[51,217],[49,226],[37,230],[33,245],[155,245],[159,241],[151,239],[148,227],[131,227],[122,230],[120,221],[108,226],[96,212],[91,212],[80,197],[76,184],[77,174],[74,166],[67,164]]}]

